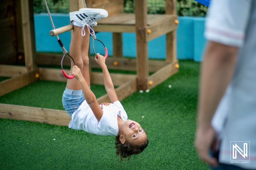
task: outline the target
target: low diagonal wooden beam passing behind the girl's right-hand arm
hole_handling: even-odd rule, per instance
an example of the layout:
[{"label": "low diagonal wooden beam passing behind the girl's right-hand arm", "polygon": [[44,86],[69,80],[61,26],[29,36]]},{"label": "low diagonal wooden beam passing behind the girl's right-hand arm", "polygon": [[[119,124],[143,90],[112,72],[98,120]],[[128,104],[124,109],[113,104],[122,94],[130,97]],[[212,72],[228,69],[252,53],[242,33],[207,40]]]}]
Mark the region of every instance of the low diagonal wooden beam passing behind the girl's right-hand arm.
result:
[{"label": "low diagonal wooden beam passing behind the girl's right-hand arm", "polygon": [[[119,101],[124,100],[126,97],[137,91],[137,78],[130,80],[129,82],[117,87],[115,89],[116,95]],[[105,94],[97,99],[97,102],[101,104],[102,102],[111,102],[108,94]]]}]

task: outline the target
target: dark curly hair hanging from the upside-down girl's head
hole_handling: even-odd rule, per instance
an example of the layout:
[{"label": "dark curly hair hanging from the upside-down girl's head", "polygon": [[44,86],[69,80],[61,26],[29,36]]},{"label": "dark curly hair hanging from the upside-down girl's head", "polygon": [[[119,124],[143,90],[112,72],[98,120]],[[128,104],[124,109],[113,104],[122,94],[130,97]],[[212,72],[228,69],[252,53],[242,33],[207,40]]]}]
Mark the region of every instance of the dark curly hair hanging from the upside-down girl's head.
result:
[{"label": "dark curly hair hanging from the upside-down girl's head", "polygon": [[138,155],[141,153],[147,146],[148,146],[148,138],[147,140],[141,144],[141,145],[134,145],[132,143],[129,143],[128,141],[125,141],[124,144],[120,142],[120,136],[116,136],[116,156],[120,155],[120,162],[127,158],[129,160],[132,155]]}]

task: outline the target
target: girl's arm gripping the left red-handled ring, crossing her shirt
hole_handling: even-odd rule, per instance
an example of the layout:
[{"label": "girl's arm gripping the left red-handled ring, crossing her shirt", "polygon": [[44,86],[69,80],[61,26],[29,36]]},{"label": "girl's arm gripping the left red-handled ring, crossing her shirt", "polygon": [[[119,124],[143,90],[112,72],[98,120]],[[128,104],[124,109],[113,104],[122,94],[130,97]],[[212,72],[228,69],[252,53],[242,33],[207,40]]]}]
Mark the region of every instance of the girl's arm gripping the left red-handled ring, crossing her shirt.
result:
[{"label": "girl's arm gripping the left red-handled ring, crossing her shirt", "polygon": [[93,94],[93,92],[91,91],[89,86],[87,85],[87,83],[81,73],[81,70],[76,65],[72,68],[72,74],[78,80],[78,82],[84,92],[84,98],[85,98],[86,102],[91,107],[92,112],[93,112],[94,116],[96,117],[96,119],[98,120],[98,122],[100,122],[100,119],[103,115],[103,111],[100,108],[95,95]]}]

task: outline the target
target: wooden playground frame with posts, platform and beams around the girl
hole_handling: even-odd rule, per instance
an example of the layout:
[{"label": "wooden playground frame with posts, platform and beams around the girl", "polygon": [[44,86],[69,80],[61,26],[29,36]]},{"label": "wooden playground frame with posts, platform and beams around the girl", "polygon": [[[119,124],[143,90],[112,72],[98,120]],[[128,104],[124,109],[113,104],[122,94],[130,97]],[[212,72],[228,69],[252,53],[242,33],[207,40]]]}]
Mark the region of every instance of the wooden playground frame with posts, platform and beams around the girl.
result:
[{"label": "wooden playground frame with posts, platform and beams around the girl", "polygon": [[[94,27],[96,32],[113,32],[113,57],[106,59],[107,67],[137,71],[137,75],[110,73],[114,86],[118,86],[116,94],[119,100],[123,100],[137,90],[152,89],[178,72],[176,0],[165,1],[165,14],[147,14],[146,0],[135,0],[135,14],[131,14],[122,13],[124,11],[123,0],[86,0],[88,8],[102,8],[108,11],[108,17],[97,21],[98,26]],[[67,79],[63,76],[61,69],[37,67],[37,64],[60,65],[62,55],[36,54],[33,0],[4,0],[0,4],[5,10],[5,16],[0,18],[2,26],[5,27],[0,29],[0,33],[2,37],[6,37],[4,39],[6,42],[2,42],[1,47],[1,51],[4,51],[1,55],[2,62],[8,64],[16,61],[16,58],[19,60],[24,58],[26,65],[0,65],[0,76],[12,77],[0,82],[0,96],[39,79],[66,82]],[[70,12],[78,11],[80,8],[84,8],[82,0],[69,0]],[[68,25],[52,30],[50,34],[54,36],[72,29],[73,26]],[[123,57],[123,32],[136,33],[136,59]],[[166,56],[165,61],[148,60],[148,41],[164,34],[166,34],[166,54],[162,55]],[[89,58],[91,84],[104,85],[103,73],[91,71],[91,68],[100,68],[100,66],[94,61],[94,56]],[[68,57],[65,57],[63,65],[70,66]],[[69,72],[69,70],[65,71]],[[154,73],[149,76],[149,72]],[[101,96],[97,101],[99,104],[103,101],[110,102],[108,94]],[[8,104],[0,104],[0,118],[66,126],[71,120],[63,110]]]}]

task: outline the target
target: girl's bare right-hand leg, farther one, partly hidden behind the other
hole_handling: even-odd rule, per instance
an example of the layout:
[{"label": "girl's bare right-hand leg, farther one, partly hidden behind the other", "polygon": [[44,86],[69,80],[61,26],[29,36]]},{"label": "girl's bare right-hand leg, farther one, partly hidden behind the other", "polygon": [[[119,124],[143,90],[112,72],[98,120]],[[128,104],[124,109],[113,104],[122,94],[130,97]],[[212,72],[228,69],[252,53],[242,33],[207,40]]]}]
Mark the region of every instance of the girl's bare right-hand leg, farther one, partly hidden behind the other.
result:
[{"label": "girl's bare right-hand leg, farther one, partly hidden behind the other", "polygon": [[84,64],[82,73],[87,85],[90,87],[89,57],[88,57],[90,33],[86,26],[84,27],[84,30],[85,30],[85,35],[82,36],[81,38],[81,56]]}]

